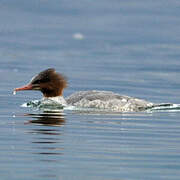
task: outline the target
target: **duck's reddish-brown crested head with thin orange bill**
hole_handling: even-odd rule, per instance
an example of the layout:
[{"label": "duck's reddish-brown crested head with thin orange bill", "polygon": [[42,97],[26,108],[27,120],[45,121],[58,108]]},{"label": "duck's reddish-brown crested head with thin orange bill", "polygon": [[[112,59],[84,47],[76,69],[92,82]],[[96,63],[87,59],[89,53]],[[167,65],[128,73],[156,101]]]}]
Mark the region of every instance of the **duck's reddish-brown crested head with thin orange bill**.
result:
[{"label": "duck's reddish-brown crested head with thin orange bill", "polygon": [[32,78],[29,84],[16,88],[14,91],[39,90],[45,97],[62,96],[67,87],[66,78],[55,69],[46,69]]}]

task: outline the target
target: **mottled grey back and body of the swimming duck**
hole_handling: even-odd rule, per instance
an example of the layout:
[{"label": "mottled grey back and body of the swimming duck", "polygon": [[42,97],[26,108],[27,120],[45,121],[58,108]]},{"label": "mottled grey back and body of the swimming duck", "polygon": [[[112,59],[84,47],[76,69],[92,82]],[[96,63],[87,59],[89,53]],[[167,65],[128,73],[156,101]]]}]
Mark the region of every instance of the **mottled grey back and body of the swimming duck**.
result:
[{"label": "mottled grey back and body of the swimming duck", "polygon": [[153,103],[111,91],[79,91],[66,98],[68,105],[118,112],[142,111]]}]

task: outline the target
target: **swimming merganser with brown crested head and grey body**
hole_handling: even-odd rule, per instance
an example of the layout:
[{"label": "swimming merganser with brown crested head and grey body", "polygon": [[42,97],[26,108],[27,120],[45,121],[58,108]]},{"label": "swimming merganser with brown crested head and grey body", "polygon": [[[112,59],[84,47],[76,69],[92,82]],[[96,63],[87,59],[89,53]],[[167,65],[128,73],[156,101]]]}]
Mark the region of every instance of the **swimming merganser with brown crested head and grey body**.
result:
[{"label": "swimming merganser with brown crested head and grey body", "polygon": [[63,90],[66,87],[66,77],[57,73],[55,69],[50,68],[33,77],[29,84],[14,89],[14,92],[39,90],[43,93],[44,99],[51,99],[64,106],[70,105],[80,108],[96,108],[118,112],[142,111],[154,106],[151,102],[111,91],[79,91],[64,99]]}]

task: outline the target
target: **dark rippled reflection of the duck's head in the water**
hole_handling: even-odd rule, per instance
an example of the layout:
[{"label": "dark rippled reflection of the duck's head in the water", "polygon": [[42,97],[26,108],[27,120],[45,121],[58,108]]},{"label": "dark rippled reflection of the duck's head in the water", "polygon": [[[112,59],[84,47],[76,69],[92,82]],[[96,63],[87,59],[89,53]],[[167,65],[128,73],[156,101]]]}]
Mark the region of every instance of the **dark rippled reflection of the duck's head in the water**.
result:
[{"label": "dark rippled reflection of the duck's head in the water", "polygon": [[32,153],[41,155],[39,161],[58,161],[60,158],[58,155],[64,154],[62,138],[65,124],[64,114],[43,112],[40,114],[25,114],[24,116],[32,119],[25,123],[33,125],[33,128],[28,131],[32,135]]}]

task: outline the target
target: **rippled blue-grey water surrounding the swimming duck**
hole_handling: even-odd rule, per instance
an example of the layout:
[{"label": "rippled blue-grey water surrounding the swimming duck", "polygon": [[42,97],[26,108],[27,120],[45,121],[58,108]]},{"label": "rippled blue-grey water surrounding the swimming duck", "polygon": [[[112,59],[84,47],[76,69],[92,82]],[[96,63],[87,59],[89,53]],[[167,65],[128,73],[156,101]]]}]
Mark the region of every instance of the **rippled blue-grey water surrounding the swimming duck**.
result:
[{"label": "rippled blue-grey water surrounding the swimming duck", "polygon": [[[1,0],[3,180],[179,180],[180,112],[46,114],[12,90],[54,67],[64,95],[110,90],[180,103],[178,0]],[[81,38],[77,34],[82,35]]]}]

